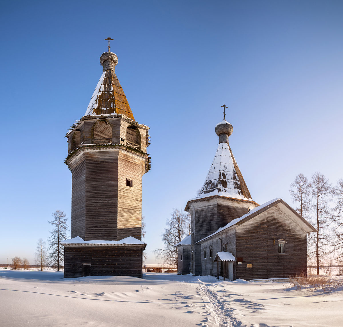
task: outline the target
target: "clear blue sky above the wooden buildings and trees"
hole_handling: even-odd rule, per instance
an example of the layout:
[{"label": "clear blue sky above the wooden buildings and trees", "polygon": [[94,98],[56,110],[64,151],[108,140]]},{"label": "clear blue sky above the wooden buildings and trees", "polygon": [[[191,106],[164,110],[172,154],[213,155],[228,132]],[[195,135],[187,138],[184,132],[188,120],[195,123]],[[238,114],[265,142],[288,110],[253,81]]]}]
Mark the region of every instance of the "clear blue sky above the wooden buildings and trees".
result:
[{"label": "clear blue sky above the wooden buildings and trees", "polygon": [[33,263],[51,213],[70,220],[64,135],[86,111],[108,36],[134,117],[151,128],[148,263],[173,207],[202,187],[224,101],[256,202],[292,204],[299,172],[343,178],[342,17],[342,1],[3,2],[0,263]]}]

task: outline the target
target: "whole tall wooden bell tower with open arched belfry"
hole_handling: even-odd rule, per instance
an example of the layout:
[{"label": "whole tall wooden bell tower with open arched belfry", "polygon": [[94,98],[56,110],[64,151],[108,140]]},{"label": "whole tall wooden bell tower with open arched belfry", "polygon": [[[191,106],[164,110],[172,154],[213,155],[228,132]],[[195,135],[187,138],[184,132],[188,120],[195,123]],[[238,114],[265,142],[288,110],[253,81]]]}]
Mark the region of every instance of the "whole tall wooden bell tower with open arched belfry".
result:
[{"label": "whole tall wooden bell tower with open arched belfry", "polygon": [[142,277],[142,175],[150,170],[149,127],[134,120],[118,81],[113,52],[84,116],[67,133],[72,172],[71,239],[64,277]]}]

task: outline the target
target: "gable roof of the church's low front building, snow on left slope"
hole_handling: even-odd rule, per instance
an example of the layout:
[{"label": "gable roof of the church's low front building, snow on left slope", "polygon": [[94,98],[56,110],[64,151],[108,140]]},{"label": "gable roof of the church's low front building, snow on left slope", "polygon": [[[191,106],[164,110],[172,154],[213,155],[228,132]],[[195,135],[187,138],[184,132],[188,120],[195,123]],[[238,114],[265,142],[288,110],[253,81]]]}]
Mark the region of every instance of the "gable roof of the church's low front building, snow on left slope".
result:
[{"label": "gable roof of the church's low front building, snow on left slope", "polygon": [[250,212],[248,212],[247,214],[245,214],[239,218],[233,219],[227,225],[219,228],[215,233],[204,237],[203,239],[199,240],[197,243],[200,243],[205,239],[208,239],[212,236],[215,236],[216,234],[222,232],[223,230],[225,230],[229,227],[242,225],[242,224],[246,223],[247,221],[249,221],[250,219],[252,219],[253,217],[256,217],[257,215],[263,213],[264,211],[269,210],[270,208],[274,207],[275,205],[280,205],[280,204],[282,205],[282,207],[284,208],[284,210],[286,212],[291,214],[293,216],[293,218],[295,218],[297,220],[297,222],[299,223],[299,226],[301,226],[299,228],[303,229],[306,233],[316,232],[315,227],[313,227],[305,218],[301,217],[285,201],[283,201],[282,199],[279,198],[279,199],[274,199],[274,200],[268,201],[266,203],[263,203],[263,204],[259,205],[258,207],[250,210]]}]

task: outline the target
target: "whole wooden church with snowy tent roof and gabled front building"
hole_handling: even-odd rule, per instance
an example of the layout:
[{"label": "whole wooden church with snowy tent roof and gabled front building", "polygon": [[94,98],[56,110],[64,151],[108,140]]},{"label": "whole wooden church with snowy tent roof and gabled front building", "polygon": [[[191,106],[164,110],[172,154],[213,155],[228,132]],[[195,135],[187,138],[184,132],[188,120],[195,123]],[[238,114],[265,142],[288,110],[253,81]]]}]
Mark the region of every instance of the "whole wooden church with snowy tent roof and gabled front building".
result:
[{"label": "whole wooden church with snowy tent roof and gabled front building", "polygon": [[187,202],[191,235],[176,244],[178,273],[251,280],[307,274],[306,236],[316,232],[282,199],[251,198],[228,143],[233,127],[215,126],[219,144],[200,195]]}]

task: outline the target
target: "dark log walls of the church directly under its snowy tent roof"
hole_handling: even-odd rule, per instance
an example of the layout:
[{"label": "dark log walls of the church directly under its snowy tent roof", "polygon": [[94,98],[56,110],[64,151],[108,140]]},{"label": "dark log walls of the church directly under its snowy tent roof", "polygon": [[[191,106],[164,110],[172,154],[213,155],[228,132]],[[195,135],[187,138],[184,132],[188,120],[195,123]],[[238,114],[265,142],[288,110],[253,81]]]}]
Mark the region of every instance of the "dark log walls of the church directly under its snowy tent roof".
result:
[{"label": "dark log walls of the church directly under its snowy tent roof", "polygon": [[253,201],[227,198],[225,196],[210,196],[208,198],[188,201],[185,210],[191,214],[191,272],[202,274],[202,255],[199,240],[216,232],[227,223],[248,213],[258,204]]}]

